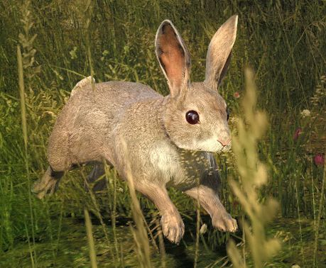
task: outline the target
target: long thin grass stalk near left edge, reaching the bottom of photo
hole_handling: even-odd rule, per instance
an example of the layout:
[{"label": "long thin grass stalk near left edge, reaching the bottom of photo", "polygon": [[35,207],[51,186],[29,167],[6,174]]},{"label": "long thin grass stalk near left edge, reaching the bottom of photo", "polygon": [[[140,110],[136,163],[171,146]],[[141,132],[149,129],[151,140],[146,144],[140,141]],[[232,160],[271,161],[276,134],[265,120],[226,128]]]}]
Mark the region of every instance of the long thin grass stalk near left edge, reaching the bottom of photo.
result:
[{"label": "long thin grass stalk near left edge, reaching the bottom of photo", "polygon": [[[35,233],[34,233],[34,218],[33,218],[33,203],[31,198],[31,178],[28,167],[28,149],[27,149],[27,123],[26,123],[26,105],[25,105],[25,86],[23,82],[23,60],[21,57],[21,47],[17,45],[17,62],[18,62],[18,83],[19,83],[19,95],[21,97],[21,128],[23,129],[23,143],[25,149],[25,168],[27,177],[27,191],[28,191],[28,203],[30,208],[30,220],[31,220],[31,232],[33,239],[33,253],[31,252],[31,264],[32,267],[36,265],[36,250],[35,250]],[[26,229],[27,231],[27,229]],[[31,247],[30,247],[31,249]]]}]

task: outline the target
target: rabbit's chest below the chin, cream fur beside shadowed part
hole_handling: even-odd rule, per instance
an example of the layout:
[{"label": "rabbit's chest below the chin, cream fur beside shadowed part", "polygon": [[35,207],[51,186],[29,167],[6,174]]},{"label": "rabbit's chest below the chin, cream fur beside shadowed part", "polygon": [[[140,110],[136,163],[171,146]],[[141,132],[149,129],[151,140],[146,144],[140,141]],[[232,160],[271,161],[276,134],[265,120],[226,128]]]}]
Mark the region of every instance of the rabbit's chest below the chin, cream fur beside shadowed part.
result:
[{"label": "rabbit's chest below the chin, cream fur beside shadowed part", "polygon": [[213,169],[209,153],[173,150],[166,145],[159,145],[151,152],[151,162],[166,186],[181,191],[197,186]]}]

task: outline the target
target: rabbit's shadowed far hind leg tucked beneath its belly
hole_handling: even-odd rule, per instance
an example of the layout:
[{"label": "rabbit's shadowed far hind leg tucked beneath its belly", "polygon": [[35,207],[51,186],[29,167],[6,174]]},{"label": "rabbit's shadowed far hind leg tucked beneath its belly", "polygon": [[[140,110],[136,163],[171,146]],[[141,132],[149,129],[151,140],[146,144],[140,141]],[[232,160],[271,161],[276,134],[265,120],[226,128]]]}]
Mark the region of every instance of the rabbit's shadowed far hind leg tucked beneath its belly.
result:
[{"label": "rabbit's shadowed far hind leg tucked beneath its belly", "polygon": [[[107,186],[107,179],[104,176],[105,170],[103,164],[95,164],[92,172],[87,176],[87,182],[85,182],[85,189],[88,191],[89,188],[92,191],[102,191]],[[92,184],[90,186],[89,184]]]}]

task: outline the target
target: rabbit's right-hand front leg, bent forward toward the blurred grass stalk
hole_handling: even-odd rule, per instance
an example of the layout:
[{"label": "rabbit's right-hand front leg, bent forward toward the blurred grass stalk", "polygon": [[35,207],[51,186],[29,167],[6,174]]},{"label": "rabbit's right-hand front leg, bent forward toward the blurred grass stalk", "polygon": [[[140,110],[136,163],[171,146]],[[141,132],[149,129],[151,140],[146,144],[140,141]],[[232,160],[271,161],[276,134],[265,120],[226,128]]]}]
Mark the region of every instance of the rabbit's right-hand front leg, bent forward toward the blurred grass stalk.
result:
[{"label": "rabbit's right-hand front leg, bent forward toward the blurred grass stalk", "polygon": [[237,220],[234,220],[234,218],[227,213],[227,210],[219,200],[217,191],[212,189],[211,186],[200,185],[185,191],[185,194],[188,194],[194,199],[199,199],[205,211],[210,213],[212,225],[215,228],[232,233],[237,230]]}]

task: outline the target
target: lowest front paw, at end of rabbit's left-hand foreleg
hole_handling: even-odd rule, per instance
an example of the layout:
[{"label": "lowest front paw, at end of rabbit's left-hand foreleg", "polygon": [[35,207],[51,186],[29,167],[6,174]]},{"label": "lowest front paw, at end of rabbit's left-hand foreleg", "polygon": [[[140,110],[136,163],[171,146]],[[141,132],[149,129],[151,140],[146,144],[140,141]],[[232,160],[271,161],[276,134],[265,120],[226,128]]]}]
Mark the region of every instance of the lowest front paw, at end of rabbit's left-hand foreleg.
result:
[{"label": "lowest front paw, at end of rabbit's left-hand foreleg", "polygon": [[179,244],[185,233],[185,225],[180,214],[164,214],[161,218],[163,235],[175,244]]}]

